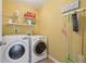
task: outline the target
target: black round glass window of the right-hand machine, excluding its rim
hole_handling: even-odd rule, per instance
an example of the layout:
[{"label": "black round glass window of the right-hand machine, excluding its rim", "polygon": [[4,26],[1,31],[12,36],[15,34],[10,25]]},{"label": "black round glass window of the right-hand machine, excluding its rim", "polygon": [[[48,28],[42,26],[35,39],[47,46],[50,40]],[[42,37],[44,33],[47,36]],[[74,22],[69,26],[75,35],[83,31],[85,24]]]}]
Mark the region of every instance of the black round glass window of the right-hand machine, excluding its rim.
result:
[{"label": "black round glass window of the right-hand machine, excluding its rim", "polygon": [[42,41],[38,42],[35,47],[35,53],[38,55],[42,54],[45,50],[46,50],[46,43]]}]

